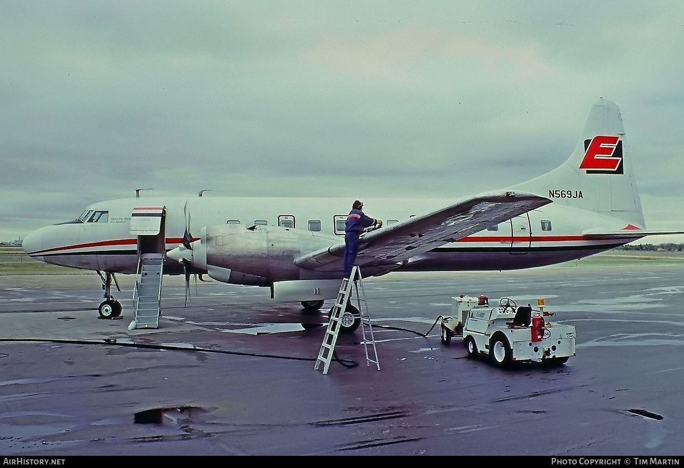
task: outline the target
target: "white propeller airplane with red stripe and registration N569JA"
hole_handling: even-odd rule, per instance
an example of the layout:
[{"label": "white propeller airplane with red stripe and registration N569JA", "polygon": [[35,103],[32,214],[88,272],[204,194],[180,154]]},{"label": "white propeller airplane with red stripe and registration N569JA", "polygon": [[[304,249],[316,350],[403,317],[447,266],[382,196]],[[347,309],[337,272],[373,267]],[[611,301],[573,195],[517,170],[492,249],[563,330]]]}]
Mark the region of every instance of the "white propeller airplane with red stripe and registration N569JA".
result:
[{"label": "white propeller airplane with red stripe and registration N569JA", "polygon": [[[23,247],[46,263],[98,272],[103,317],[121,311],[111,296],[113,275],[139,272],[150,253],[163,257],[164,274],[185,274],[186,281],[207,274],[269,287],[274,300],[308,309],[337,297],[352,198],[202,195],[94,203],[76,220],[27,235]],[[536,179],[457,201],[363,202],[386,220],[361,237],[356,263],[363,276],[531,268],[646,235],[684,233],[646,229],[620,109],[603,99],[594,103],[570,158]],[[356,326],[358,320],[347,328]]]}]

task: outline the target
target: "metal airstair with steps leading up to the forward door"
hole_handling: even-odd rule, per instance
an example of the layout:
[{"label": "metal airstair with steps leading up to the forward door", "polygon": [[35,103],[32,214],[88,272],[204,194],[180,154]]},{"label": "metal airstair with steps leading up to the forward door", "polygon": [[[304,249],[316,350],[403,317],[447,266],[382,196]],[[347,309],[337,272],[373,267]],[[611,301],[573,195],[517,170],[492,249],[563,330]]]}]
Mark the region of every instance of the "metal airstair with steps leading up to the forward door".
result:
[{"label": "metal airstair with steps leading up to the forward door", "polygon": [[141,254],[137,270],[137,281],[133,289],[135,318],[129,325],[129,329],[159,328],[164,255],[161,253]]}]

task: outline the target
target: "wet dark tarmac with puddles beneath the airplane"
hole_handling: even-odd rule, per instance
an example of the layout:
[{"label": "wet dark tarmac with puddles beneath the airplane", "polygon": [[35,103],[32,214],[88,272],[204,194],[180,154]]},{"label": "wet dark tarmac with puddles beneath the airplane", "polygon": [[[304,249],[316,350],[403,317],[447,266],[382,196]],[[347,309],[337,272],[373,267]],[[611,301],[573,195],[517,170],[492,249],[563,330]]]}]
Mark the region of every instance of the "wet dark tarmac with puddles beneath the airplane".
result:
[{"label": "wet dark tarmac with puddles beneath the airplane", "polygon": [[[320,313],[267,289],[165,278],[158,329],[98,319],[92,275],[0,276],[2,455],[684,454],[684,265],[560,265],[365,281],[360,330],[315,370]],[[577,327],[560,367],[440,343],[451,298],[545,298]],[[429,332],[429,333],[428,333]],[[369,364],[369,365],[368,365]]]}]

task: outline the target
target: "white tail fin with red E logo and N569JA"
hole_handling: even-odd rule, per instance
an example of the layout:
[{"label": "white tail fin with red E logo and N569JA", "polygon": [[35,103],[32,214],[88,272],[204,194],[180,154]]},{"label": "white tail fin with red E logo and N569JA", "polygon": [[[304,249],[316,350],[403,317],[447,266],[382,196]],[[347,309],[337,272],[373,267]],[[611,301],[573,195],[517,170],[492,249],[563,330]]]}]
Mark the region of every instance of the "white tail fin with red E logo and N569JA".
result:
[{"label": "white tail fin with red E logo and N569JA", "polygon": [[618,218],[625,223],[622,229],[646,229],[620,109],[605,99],[592,106],[577,147],[562,166],[512,188]]}]

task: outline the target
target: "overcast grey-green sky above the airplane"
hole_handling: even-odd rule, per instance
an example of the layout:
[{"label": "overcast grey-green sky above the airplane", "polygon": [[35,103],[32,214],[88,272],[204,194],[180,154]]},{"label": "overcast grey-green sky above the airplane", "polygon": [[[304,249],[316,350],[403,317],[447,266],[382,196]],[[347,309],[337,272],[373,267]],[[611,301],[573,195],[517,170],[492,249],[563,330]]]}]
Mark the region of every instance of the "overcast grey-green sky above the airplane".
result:
[{"label": "overcast grey-green sky above the airplane", "polygon": [[648,228],[684,228],[679,0],[0,0],[0,44],[1,240],[137,188],[493,190],[567,159],[599,97]]}]

